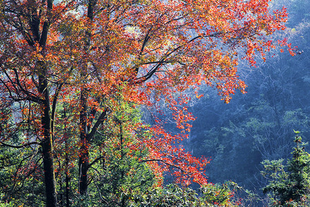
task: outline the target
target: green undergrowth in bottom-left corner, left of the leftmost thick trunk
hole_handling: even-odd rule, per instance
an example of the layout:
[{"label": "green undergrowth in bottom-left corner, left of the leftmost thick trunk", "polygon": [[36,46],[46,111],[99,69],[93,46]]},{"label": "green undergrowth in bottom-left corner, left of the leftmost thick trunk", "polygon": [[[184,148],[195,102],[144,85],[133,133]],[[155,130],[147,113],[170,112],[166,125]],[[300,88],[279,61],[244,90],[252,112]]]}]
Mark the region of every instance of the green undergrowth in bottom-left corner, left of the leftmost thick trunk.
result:
[{"label": "green undergrowth in bottom-left corner, left of the leftmost thick trunk", "polygon": [[39,148],[0,146],[0,195],[6,205],[44,206]]}]

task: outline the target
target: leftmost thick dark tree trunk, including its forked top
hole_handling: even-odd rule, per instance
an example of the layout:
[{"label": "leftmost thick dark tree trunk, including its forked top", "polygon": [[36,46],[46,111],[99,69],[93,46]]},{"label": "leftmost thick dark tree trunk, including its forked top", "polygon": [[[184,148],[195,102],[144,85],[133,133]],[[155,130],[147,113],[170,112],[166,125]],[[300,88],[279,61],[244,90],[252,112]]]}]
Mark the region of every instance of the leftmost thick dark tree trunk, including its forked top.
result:
[{"label": "leftmost thick dark tree trunk, including its forked top", "polygon": [[[36,10],[32,11],[32,21],[30,19],[30,28],[34,41],[39,42],[42,48],[43,57],[45,52],[46,42],[48,40],[48,32],[50,30],[50,12],[53,8],[53,0],[47,2],[47,19],[44,21],[41,36],[39,37],[39,23],[41,17],[36,13]],[[52,117],[50,111],[50,92],[48,89],[47,68],[41,61],[39,63],[39,92],[43,97],[43,103],[41,103],[41,124],[43,128],[43,139],[41,141],[42,155],[43,155],[43,168],[44,168],[44,181],[45,181],[45,194],[46,194],[46,206],[57,206],[56,195],[56,180],[54,174],[54,161],[53,161],[53,140],[52,140]]]}]

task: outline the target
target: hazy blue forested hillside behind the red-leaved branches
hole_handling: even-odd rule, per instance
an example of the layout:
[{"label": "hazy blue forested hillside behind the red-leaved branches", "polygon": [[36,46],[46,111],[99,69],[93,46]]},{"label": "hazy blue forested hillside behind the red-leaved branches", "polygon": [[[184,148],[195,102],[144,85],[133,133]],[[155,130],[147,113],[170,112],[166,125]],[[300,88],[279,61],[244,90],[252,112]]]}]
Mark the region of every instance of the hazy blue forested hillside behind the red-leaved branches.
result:
[{"label": "hazy blue forested hillside behind the red-leaved branches", "polygon": [[229,104],[205,88],[205,96],[191,108],[197,119],[185,144],[194,155],[211,157],[209,181],[236,181],[261,197],[267,185],[261,162],[290,159],[293,130],[310,141],[309,1],[276,1],[273,6],[282,4],[289,12],[287,30],[274,35],[289,38],[297,55],[272,51],[257,68],[242,64],[247,94],[234,95]]}]

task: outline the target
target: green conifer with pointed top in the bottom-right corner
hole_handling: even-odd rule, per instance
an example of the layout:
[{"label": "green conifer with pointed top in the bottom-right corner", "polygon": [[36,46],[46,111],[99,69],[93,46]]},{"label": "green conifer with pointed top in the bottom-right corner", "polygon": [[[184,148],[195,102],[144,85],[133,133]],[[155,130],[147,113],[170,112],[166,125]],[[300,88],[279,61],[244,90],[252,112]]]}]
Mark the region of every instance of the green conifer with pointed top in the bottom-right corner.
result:
[{"label": "green conifer with pointed top in the bottom-right corner", "polygon": [[282,164],[283,159],[265,160],[261,173],[269,184],[262,188],[269,195],[272,206],[309,206],[310,204],[310,155],[304,150],[306,144],[295,131],[293,158]]}]

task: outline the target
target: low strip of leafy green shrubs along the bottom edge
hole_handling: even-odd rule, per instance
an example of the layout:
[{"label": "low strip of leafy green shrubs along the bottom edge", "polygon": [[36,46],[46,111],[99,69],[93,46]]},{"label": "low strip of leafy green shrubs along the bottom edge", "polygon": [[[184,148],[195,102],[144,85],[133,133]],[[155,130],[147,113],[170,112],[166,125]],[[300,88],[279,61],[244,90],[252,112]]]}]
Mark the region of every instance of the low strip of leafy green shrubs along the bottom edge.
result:
[{"label": "low strip of leafy green shrubs along the bottom edge", "polygon": [[[123,193],[119,199],[96,200],[90,197],[80,197],[74,201],[73,206],[204,206],[217,207],[238,206],[240,202],[232,194],[239,188],[232,182],[223,185],[207,184],[202,186],[198,192],[192,188],[180,188],[176,184],[168,184],[165,187],[151,187],[144,193]],[[117,200],[119,202],[117,202]]]}]

